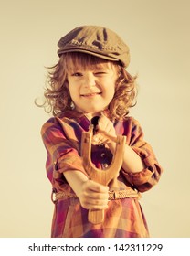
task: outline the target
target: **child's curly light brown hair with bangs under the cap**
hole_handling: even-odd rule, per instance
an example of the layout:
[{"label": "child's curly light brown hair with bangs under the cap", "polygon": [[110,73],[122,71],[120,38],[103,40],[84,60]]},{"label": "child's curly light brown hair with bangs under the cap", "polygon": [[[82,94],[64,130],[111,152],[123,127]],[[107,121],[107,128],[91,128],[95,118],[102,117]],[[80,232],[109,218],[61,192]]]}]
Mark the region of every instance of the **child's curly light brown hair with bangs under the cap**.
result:
[{"label": "child's curly light brown hair with bangs under the cap", "polygon": [[136,76],[132,77],[117,61],[101,59],[79,52],[64,53],[55,66],[47,68],[48,84],[44,92],[46,102],[43,104],[45,111],[51,112],[54,116],[59,116],[72,109],[67,79],[69,73],[79,69],[104,67],[108,63],[115,66],[119,75],[114,97],[108,106],[107,115],[112,121],[125,118],[129,109],[136,104]]}]

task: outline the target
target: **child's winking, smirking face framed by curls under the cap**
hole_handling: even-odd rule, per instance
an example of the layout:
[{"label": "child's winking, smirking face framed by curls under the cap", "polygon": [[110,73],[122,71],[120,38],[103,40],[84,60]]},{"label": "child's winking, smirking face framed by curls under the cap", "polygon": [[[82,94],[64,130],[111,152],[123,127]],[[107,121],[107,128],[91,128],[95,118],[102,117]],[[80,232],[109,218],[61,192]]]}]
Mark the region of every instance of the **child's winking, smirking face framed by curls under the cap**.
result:
[{"label": "child's winking, smirking face framed by curls under the cap", "polygon": [[78,69],[68,75],[69,93],[79,112],[97,115],[110,104],[118,79],[114,65],[94,69]]}]

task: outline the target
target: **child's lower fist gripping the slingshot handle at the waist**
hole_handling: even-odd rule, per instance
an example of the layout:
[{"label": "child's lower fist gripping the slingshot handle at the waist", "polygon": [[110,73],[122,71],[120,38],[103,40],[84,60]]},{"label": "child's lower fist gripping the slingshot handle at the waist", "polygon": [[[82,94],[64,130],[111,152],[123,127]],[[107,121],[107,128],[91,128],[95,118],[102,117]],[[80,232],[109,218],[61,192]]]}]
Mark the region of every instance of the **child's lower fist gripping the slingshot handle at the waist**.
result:
[{"label": "child's lower fist gripping the slingshot handle at the waist", "polygon": [[82,183],[78,194],[80,204],[86,209],[108,208],[109,187],[88,179]]}]

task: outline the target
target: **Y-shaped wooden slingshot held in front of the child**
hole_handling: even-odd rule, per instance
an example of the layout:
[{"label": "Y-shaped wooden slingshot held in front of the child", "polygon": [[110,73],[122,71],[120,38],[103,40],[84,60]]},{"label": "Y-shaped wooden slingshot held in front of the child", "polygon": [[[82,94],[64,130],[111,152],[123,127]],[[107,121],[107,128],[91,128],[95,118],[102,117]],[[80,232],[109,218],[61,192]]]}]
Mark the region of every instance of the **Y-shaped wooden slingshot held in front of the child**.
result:
[{"label": "Y-shaped wooden slingshot held in front of the child", "polygon": [[[83,158],[83,166],[87,171],[90,179],[104,185],[108,186],[114,177],[119,175],[122,161],[124,144],[126,141],[125,136],[118,135],[116,141],[116,149],[113,155],[111,165],[106,169],[100,170],[96,168],[91,162],[91,139],[93,134],[93,125],[90,125],[89,132],[82,133],[81,141],[81,156]],[[88,219],[93,224],[101,223],[104,220],[104,210],[100,209],[90,209]]]}]

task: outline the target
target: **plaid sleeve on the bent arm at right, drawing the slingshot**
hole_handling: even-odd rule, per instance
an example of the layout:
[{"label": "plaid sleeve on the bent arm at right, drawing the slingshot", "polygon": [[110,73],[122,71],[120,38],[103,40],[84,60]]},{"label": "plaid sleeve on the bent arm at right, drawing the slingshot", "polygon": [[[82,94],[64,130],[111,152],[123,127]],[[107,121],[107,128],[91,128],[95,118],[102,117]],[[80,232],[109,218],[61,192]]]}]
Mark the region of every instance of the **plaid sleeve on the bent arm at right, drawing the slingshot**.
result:
[{"label": "plaid sleeve on the bent arm at right, drawing the slingshot", "polygon": [[133,187],[144,192],[157,184],[163,168],[158,164],[151,145],[143,140],[142,128],[138,121],[131,119],[129,127],[131,129],[128,129],[126,134],[128,144],[142,158],[145,168],[137,173],[126,172],[122,169],[122,173]]}]

